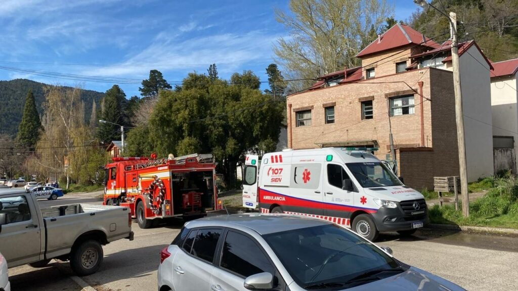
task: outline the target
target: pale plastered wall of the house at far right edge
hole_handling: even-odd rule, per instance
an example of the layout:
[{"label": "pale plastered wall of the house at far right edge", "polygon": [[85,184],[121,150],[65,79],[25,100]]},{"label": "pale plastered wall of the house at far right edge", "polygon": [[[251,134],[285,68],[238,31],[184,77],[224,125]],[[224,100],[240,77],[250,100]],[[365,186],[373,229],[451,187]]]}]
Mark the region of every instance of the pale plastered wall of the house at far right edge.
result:
[{"label": "pale plastered wall of the house at far right edge", "polygon": [[[491,78],[493,135],[512,136],[514,138],[515,153],[518,153],[518,107],[516,106],[517,88],[518,81],[516,75],[510,77]],[[518,159],[516,159],[515,165],[518,165]]]}]

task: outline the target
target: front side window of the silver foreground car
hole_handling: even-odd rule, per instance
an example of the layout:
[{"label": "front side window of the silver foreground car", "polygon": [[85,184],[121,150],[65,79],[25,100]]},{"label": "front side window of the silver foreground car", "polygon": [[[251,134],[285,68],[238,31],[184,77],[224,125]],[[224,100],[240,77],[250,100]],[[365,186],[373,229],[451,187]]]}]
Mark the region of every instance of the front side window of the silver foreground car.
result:
[{"label": "front side window of the silver foreground car", "polygon": [[251,238],[234,231],[228,231],[225,238],[220,265],[244,278],[263,272],[276,273],[261,248]]}]

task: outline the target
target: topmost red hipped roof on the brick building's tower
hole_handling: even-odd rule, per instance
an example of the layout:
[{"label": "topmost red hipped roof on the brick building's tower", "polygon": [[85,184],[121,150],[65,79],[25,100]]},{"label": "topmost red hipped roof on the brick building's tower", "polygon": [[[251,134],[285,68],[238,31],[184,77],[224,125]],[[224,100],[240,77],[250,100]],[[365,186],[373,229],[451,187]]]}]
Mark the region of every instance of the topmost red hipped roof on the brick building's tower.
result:
[{"label": "topmost red hipped roof on the brick building's tower", "polygon": [[407,45],[422,45],[430,48],[439,48],[437,42],[427,38],[423,34],[405,24],[396,24],[383,33],[379,39],[372,41],[370,45],[359,52],[356,57],[362,57],[385,50],[390,50]]}]

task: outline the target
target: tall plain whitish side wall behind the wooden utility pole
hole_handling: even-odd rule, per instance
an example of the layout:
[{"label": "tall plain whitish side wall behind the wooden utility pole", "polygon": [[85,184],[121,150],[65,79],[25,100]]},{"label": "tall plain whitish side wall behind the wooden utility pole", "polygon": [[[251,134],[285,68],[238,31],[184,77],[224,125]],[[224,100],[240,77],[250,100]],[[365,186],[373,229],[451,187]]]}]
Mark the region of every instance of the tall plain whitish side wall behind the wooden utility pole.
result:
[{"label": "tall plain whitish side wall behind the wooden utility pole", "polygon": [[490,67],[475,46],[461,55],[460,63],[467,172],[471,182],[494,173]]}]

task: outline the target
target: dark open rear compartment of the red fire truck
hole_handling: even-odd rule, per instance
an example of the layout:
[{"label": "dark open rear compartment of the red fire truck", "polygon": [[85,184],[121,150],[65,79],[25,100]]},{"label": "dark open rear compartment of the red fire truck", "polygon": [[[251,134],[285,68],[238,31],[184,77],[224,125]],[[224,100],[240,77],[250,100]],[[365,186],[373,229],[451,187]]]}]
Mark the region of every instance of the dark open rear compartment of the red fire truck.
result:
[{"label": "dark open rear compartment of the red fire truck", "polygon": [[214,209],[212,171],[172,172],[172,207],[175,214]]}]

